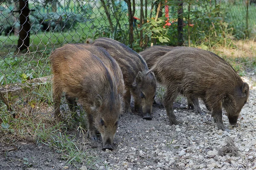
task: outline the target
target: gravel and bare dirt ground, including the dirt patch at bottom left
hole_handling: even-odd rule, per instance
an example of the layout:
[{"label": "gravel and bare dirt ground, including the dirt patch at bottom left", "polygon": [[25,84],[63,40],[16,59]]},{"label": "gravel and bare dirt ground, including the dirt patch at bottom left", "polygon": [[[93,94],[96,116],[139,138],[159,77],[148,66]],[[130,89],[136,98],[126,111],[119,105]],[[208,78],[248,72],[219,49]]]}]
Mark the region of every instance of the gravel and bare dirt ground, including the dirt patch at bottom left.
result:
[{"label": "gravel and bare dirt ground, including the dirt patch at bottom left", "polygon": [[[255,86],[256,76],[243,77]],[[253,81],[255,80],[255,82]],[[224,125],[230,132],[218,130],[210,112],[200,104],[205,116],[186,107],[184,98],[175,103],[174,112],[181,125],[169,125],[162,105],[153,106],[153,119],[142,115],[122,114],[113,151],[101,150],[102,142],[86,144],[90,164],[66,164],[59,153],[47,145],[31,142],[0,143],[0,170],[194,170],[194,169],[256,169],[256,89],[250,90],[247,104],[241,111],[237,126]],[[225,113],[225,112],[224,112]],[[218,150],[233,139],[238,156],[220,155]],[[92,147],[96,147],[92,149]]]}]

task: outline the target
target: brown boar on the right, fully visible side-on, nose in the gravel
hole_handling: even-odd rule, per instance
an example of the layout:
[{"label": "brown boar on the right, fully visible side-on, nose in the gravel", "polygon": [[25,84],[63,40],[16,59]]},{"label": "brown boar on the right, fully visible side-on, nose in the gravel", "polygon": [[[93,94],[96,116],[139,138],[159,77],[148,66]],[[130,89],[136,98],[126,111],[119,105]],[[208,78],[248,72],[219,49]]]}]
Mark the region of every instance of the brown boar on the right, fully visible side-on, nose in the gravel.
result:
[{"label": "brown boar on the right, fully visible side-on, nose in the gravel", "polygon": [[172,48],[150,71],[154,71],[157,80],[166,87],[163,104],[171,125],[179,124],[172,109],[179,93],[197,104],[198,98],[204,99],[221,130],[227,130],[222,122],[222,107],[234,125],[249,95],[248,84],[227,61],[198,48]]}]

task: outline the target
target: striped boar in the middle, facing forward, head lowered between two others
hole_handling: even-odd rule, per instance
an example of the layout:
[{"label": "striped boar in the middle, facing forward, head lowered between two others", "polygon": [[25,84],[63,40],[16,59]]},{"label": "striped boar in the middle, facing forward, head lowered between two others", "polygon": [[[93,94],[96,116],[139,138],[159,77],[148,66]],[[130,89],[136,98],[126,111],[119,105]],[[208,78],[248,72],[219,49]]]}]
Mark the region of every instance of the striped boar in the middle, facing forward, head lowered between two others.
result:
[{"label": "striped boar in the middle, facing forward, head lowered between two others", "polygon": [[125,83],[125,112],[131,113],[131,95],[135,111],[143,113],[143,119],[152,119],[151,111],[156,92],[156,79],[145,60],[126,45],[110,38],[99,38],[93,45],[105,48],[119,64]]}]

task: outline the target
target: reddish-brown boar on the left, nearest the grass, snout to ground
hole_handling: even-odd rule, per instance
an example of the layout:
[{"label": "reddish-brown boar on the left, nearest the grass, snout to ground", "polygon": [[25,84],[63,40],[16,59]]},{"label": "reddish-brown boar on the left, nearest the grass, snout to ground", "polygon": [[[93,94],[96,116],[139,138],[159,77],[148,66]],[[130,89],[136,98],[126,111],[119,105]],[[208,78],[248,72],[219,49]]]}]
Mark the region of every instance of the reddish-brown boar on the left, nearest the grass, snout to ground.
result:
[{"label": "reddish-brown boar on the left, nearest the grass, snout to ground", "polygon": [[87,113],[90,139],[96,141],[97,129],[102,136],[102,149],[112,150],[121,110],[121,96],[116,87],[118,80],[114,74],[99,57],[76,44],[57,48],[49,59],[53,73],[55,118],[61,121],[62,92],[71,101],[78,98]]}]

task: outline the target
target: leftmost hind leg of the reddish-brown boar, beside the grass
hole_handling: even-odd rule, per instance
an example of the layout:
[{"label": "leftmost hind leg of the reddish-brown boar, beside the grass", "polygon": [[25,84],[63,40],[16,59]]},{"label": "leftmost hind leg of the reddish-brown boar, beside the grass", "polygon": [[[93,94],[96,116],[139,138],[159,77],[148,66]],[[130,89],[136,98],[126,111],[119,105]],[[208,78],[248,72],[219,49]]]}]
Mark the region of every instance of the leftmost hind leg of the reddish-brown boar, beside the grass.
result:
[{"label": "leftmost hind leg of the reddish-brown boar, beside the grass", "polygon": [[62,121],[61,110],[60,110],[61,94],[62,94],[61,87],[58,85],[58,83],[55,83],[55,80],[53,79],[52,97],[54,102],[54,118],[57,120],[57,122]]}]

